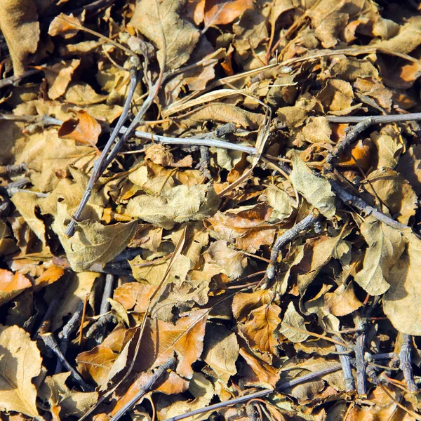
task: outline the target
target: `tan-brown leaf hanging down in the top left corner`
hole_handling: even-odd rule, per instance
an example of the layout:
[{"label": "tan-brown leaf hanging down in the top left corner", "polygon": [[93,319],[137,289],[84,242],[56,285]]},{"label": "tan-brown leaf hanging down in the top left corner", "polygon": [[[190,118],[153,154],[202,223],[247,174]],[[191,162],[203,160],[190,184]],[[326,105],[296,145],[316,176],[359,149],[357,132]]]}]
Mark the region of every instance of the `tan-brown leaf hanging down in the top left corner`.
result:
[{"label": "tan-brown leaf hanging down in the top left corner", "polygon": [[15,76],[25,72],[25,61],[35,53],[39,22],[33,0],[4,0],[0,8],[0,29],[11,54]]}]

